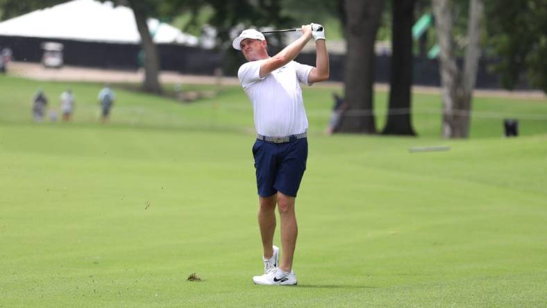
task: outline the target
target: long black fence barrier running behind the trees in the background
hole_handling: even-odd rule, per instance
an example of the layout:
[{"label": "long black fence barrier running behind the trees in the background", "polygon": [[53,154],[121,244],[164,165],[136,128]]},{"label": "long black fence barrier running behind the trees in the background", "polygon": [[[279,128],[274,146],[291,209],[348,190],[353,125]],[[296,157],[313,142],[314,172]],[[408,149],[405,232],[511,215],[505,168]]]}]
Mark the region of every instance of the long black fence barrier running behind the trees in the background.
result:
[{"label": "long black fence barrier running behind the trees in the background", "polygon": [[[99,67],[105,69],[136,70],[139,67],[138,44],[116,44],[107,42],[85,42],[75,40],[56,40],[43,37],[13,37],[0,35],[0,49],[9,47],[13,51],[12,58],[17,61],[40,62],[42,59],[42,43],[59,42],[64,44],[64,60],[66,65],[82,67]],[[228,49],[218,51],[200,49],[197,47],[176,44],[158,44],[161,69],[178,71],[181,74],[212,75],[218,67],[224,69],[226,76],[236,76],[237,68],[245,61],[239,51]],[[274,54],[275,51],[270,51]],[[296,61],[314,65],[314,53],[301,53]],[[500,80],[496,74],[489,71],[489,66],[496,59],[482,58],[479,61],[477,88],[498,89]],[[460,62],[460,65],[462,63]],[[389,83],[389,55],[376,56],[375,81]],[[439,63],[428,58],[414,58],[414,85],[441,85]],[[530,89],[525,75],[520,78],[516,89]],[[330,55],[330,80],[344,80],[344,55]]]}]

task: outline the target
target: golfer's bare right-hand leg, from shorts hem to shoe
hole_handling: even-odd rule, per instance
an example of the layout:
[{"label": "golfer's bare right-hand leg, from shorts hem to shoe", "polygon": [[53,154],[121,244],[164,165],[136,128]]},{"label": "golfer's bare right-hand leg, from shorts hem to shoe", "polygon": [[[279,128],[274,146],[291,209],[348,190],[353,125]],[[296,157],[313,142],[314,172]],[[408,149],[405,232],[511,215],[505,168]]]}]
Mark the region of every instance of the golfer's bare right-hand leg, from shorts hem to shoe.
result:
[{"label": "golfer's bare right-hand leg, from shorts hem to shoe", "polygon": [[281,245],[283,246],[283,258],[279,268],[285,272],[292,270],[292,259],[298,236],[296,214],[294,213],[295,197],[278,192],[278,211],[281,221]]}]

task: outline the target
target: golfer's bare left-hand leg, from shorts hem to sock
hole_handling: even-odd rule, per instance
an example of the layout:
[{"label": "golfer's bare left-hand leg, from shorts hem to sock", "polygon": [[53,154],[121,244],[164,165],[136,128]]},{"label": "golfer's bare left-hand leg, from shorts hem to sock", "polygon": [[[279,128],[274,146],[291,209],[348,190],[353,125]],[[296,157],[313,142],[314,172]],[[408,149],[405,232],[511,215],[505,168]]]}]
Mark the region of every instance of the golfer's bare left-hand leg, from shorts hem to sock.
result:
[{"label": "golfer's bare left-hand leg, from shorts hem to sock", "polygon": [[277,194],[269,197],[259,197],[258,225],[262,237],[264,257],[271,258],[274,255],[274,232],[276,231],[276,203]]}]

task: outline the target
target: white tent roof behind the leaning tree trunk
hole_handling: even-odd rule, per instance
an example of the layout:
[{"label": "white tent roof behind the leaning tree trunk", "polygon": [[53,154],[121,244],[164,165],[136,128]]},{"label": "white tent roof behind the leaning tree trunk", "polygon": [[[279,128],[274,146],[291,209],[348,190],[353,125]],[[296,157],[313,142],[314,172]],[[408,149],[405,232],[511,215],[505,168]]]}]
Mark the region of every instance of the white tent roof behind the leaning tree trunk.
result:
[{"label": "white tent roof behind the leaning tree trunk", "polygon": [[[156,43],[174,43],[195,46],[199,40],[194,35],[182,33],[158,19],[149,19],[151,33]],[[140,42],[131,8],[114,6],[112,2],[74,0],[43,10],[8,19],[0,23],[0,35],[48,37],[93,42]]]}]

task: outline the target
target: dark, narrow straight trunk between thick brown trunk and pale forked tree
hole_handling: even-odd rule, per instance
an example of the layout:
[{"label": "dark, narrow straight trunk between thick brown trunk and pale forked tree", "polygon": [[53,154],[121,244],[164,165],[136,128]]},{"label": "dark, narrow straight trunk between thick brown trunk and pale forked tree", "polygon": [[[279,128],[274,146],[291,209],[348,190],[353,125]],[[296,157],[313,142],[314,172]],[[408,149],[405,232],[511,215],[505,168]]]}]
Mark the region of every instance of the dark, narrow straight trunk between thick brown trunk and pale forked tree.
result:
[{"label": "dark, narrow straight trunk between thick brown trunk and pale forked tree", "polygon": [[392,63],[389,108],[382,134],[411,135],[412,129],[412,25],[414,0],[392,0]]}]

